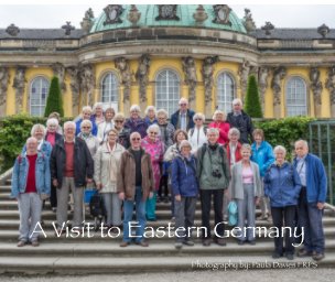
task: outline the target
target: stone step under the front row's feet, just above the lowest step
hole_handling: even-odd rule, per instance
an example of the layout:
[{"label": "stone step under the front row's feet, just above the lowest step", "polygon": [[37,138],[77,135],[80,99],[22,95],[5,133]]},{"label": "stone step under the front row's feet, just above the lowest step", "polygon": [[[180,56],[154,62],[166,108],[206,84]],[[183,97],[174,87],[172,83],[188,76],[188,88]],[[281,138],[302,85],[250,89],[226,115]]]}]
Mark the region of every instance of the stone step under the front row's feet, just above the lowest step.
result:
[{"label": "stone step under the front row's feet, just above the lowest step", "polygon": [[[110,240],[104,242],[46,242],[41,241],[40,247],[35,248],[31,245],[18,248],[14,242],[0,243],[0,257],[20,256],[20,257],[229,257],[229,256],[271,256],[274,245],[273,241],[260,241],[255,246],[237,243],[228,243],[225,247],[220,247],[216,243],[212,243],[208,247],[202,246],[199,241],[193,247],[183,246],[182,249],[175,249],[174,242],[156,242],[149,241],[150,246],[143,248],[137,245],[130,245],[127,248],[119,247],[119,241]],[[335,250],[335,240],[326,241],[326,256]]]}]

